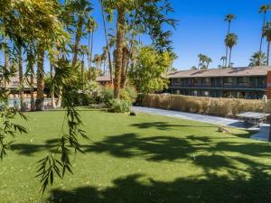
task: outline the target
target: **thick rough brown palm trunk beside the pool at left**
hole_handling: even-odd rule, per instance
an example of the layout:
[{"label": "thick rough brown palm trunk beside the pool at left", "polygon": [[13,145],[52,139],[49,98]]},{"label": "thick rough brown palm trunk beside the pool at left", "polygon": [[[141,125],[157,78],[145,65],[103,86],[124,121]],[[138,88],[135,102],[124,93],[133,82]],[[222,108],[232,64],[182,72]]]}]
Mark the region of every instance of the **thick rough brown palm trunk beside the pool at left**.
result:
[{"label": "thick rough brown palm trunk beside the pool at left", "polygon": [[36,110],[44,110],[44,47],[42,44],[38,45],[38,63],[37,63],[37,99],[36,99]]}]

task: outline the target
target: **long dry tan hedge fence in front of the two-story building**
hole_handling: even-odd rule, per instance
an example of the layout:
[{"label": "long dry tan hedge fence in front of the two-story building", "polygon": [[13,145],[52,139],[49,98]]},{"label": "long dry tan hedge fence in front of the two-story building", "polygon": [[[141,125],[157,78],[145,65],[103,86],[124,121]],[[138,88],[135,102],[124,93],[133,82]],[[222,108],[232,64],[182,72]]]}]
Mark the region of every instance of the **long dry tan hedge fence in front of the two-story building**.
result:
[{"label": "long dry tan hedge fence in front of the two-story building", "polygon": [[239,113],[252,111],[271,113],[271,100],[239,98],[192,97],[181,95],[145,95],[141,98],[145,107],[177,110],[204,115],[235,117]]}]

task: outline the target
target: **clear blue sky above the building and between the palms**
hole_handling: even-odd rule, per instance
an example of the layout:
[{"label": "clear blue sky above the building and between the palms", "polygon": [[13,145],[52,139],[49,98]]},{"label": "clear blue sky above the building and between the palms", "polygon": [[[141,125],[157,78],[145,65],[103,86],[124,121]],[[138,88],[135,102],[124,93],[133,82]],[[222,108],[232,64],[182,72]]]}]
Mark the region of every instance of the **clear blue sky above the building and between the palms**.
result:
[{"label": "clear blue sky above the building and between the palms", "polygon": [[[197,66],[198,54],[208,55],[213,62],[210,68],[221,64],[220,58],[225,55],[224,38],[228,24],[224,22],[226,14],[235,14],[236,20],[231,25],[231,32],[238,35],[238,44],[232,50],[232,62],[235,67],[248,66],[250,56],[259,50],[263,14],[258,14],[260,5],[271,4],[266,0],[169,0],[174,9],[170,17],[178,21],[173,30],[173,48],[178,55],[174,61],[176,69],[191,69]],[[99,29],[95,32],[94,53],[100,53],[105,45],[100,5],[92,0],[93,16]],[[271,17],[267,15],[267,20]],[[116,24],[107,24],[115,28]],[[147,39],[147,38],[144,38]],[[83,42],[87,43],[86,40]],[[145,40],[148,43],[148,40]],[[263,45],[266,51],[266,41]]]}]

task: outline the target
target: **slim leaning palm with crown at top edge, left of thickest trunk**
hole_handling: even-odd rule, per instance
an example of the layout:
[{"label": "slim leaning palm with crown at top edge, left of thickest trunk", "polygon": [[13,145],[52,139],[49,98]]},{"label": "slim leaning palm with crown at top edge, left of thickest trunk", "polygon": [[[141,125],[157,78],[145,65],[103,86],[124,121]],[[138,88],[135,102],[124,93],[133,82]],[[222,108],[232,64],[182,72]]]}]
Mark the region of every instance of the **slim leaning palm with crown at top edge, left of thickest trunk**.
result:
[{"label": "slim leaning palm with crown at top edge, left of thickest trunk", "polygon": [[76,25],[76,34],[75,34],[75,43],[73,48],[73,59],[72,67],[75,69],[77,64],[78,52],[79,52],[79,42],[82,35],[83,25],[89,20],[89,13],[92,11],[92,7],[88,0],[72,0],[70,5],[77,15],[77,25]]}]

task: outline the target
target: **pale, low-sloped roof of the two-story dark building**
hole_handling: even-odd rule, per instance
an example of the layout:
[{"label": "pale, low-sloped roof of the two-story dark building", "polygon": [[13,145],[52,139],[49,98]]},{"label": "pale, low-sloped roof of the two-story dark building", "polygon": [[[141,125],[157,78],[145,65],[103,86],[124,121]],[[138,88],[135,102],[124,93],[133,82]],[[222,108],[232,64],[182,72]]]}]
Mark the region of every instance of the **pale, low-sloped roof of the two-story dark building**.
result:
[{"label": "pale, low-sloped roof of the two-story dark building", "polygon": [[217,78],[217,77],[242,77],[266,76],[271,71],[271,66],[241,67],[227,69],[190,69],[169,73],[169,78]]}]

